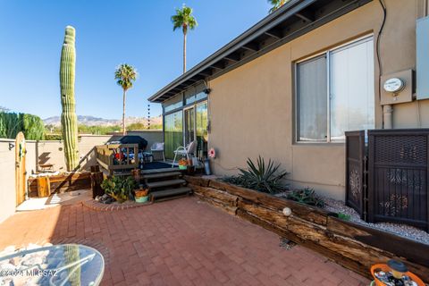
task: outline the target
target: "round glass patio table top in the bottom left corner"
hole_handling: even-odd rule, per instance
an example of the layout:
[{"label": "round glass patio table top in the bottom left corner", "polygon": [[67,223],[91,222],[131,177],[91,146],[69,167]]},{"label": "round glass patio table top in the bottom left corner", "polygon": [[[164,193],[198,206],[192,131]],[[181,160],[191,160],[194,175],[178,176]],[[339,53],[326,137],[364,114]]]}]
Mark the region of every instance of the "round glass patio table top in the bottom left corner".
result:
[{"label": "round glass patio table top in the bottom left corner", "polygon": [[0,285],[99,285],[105,259],[94,248],[61,244],[0,257]]}]

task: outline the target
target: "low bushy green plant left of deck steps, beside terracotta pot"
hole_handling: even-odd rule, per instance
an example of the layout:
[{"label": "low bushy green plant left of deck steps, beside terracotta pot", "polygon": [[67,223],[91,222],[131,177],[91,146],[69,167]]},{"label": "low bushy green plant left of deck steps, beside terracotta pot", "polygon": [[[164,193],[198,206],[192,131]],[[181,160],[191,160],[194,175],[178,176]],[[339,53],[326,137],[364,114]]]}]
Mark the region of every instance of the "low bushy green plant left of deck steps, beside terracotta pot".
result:
[{"label": "low bushy green plant left of deck steps, beside terracotta pot", "polygon": [[105,193],[120,203],[130,198],[136,186],[137,183],[132,177],[123,178],[112,176],[101,183],[101,188],[105,190]]}]

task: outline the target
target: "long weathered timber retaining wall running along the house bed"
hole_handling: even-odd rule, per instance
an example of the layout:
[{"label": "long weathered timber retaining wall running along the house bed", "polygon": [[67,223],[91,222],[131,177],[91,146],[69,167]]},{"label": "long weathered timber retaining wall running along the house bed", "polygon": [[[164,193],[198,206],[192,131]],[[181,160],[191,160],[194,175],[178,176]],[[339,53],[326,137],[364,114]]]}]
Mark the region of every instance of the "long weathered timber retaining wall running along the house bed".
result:
[{"label": "long weathered timber retaining wall running along the house bed", "polygon": [[[370,267],[397,259],[429,282],[429,245],[333,217],[323,209],[202,177],[185,176],[198,198],[311,248],[371,278]],[[290,207],[291,214],[282,213]]]}]

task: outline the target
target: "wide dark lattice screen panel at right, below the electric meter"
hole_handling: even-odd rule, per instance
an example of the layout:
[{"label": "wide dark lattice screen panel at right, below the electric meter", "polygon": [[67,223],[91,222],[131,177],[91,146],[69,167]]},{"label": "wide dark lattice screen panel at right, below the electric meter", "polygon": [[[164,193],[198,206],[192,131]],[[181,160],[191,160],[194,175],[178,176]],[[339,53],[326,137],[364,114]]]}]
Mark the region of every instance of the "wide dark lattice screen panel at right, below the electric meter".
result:
[{"label": "wide dark lattice screen panel at right, below the electric meter", "polygon": [[369,221],[429,229],[429,130],[369,130]]}]

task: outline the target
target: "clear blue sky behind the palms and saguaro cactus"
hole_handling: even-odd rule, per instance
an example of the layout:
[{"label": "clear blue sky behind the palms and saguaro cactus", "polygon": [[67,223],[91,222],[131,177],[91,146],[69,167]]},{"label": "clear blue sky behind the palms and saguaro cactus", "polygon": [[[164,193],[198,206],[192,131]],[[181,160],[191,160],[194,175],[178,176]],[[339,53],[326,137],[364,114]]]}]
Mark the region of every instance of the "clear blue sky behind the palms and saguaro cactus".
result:
[{"label": "clear blue sky behind the palms and saguaro cactus", "polygon": [[[147,97],[182,71],[182,34],[172,32],[176,0],[0,0],[0,106],[42,118],[61,114],[59,59],[66,25],[76,28],[77,114],[119,119],[114,68],[139,79],[127,116],[147,116]],[[188,37],[188,69],[267,15],[266,0],[189,0],[198,28]],[[151,105],[151,115],[161,114]]]}]

